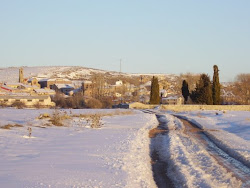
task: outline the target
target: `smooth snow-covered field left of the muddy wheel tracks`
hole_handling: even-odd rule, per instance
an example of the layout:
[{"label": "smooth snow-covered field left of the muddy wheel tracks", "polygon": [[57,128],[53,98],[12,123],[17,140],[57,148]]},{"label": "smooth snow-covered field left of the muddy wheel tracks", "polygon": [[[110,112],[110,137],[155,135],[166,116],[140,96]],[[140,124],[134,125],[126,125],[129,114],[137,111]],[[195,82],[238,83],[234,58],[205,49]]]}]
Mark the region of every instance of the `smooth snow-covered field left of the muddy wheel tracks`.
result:
[{"label": "smooth snow-covered field left of the muddy wheel tracks", "polygon": [[[124,110],[125,111],[125,110]],[[0,109],[1,187],[156,187],[151,171],[148,131],[152,114],[135,112],[102,119],[92,129],[79,117],[66,126],[44,126],[50,109]],[[67,110],[73,114],[114,110]],[[32,135],[28,136],[28,127]]]}]

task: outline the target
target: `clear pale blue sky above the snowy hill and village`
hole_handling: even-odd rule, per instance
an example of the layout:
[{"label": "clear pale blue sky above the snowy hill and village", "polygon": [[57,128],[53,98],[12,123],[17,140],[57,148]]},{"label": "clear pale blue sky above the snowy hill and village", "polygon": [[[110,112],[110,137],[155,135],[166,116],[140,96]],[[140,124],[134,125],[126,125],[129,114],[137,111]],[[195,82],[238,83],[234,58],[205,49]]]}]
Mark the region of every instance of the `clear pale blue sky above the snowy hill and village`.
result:
[{"label": "clear pale blue sky above the snowy hill and village", "polygon": [[249,0],[0,0],[1,67],[250,73]]}]

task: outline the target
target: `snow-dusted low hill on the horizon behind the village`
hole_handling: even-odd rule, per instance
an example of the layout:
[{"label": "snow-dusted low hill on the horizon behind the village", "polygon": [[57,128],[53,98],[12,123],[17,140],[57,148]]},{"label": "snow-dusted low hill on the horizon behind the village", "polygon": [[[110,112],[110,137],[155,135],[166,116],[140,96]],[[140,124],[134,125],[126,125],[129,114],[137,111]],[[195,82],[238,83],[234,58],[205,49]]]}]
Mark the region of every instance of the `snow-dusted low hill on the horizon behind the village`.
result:
[{"label": "snow-dusted low hill on the horizon behind the village", "polygon": [[[0,83],[18,82],[20,67],[0,68]],[[41,66],[41,67],[23,67],[24,78],[37,77],[43,78],[67,78],[75,84],[80,84],[82,80],[90,80],[95,74],[101,74],[100,78],[104,78],[105,82],[113,85],[117,80],[122,80],[124,83],[130,83],[135,86],[145,84],[157,76],[161,88],[169,89],[172,93],[180,94],[181,84],[183,79],[189,81],[190,88],[195,87],[195,83],[199,78],[197,74],[157,74],[157,73],[120,73],[114,71],[93,69],[81,66]]]}]

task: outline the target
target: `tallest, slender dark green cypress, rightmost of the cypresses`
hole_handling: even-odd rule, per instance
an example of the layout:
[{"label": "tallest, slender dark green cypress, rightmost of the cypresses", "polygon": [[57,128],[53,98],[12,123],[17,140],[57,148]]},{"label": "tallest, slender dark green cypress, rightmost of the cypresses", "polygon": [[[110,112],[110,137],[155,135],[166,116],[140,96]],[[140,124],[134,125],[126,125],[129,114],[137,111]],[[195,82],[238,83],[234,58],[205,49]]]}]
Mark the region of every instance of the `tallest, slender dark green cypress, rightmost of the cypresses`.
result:
[{"label": "tallest, slender dark green cypress, rightmost of the cypresses", "polygon": [[219,81],[219,69],[217,65],[214,65],[214,75],[213,75],[213,104],[220,104],[220,81]]}]

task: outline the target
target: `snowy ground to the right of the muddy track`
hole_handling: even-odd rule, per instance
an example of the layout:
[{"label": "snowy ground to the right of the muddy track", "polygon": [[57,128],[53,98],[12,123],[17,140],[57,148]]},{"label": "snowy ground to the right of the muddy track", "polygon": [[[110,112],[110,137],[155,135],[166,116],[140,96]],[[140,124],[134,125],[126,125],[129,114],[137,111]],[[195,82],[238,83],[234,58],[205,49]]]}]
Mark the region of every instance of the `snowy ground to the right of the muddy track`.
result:
[{"label": "snowy ground to the right of the muddy track", "polygon": [[193,111],[180,115],[203,128],[217,145],[250,167],[249,111]]}]

